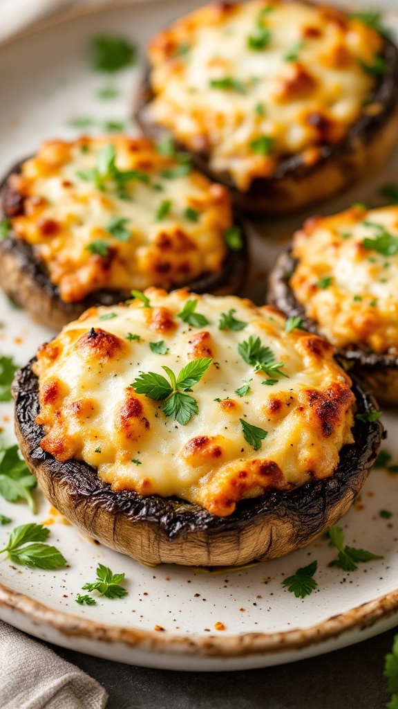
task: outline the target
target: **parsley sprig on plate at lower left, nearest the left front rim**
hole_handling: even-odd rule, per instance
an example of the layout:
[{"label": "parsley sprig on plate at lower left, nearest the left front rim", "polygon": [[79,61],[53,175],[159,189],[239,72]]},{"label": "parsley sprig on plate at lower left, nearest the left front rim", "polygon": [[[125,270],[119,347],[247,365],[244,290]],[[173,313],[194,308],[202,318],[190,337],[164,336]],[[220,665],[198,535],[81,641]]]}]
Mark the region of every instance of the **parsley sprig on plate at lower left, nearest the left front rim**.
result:
[{"label": "parsley sprig on plate at lower left, nearest the left front rim", "polygon": [[0,549],[0,554],[6,553],[14,564],[35,566],[38,569],[59,569],[65,566],[67,560],[55,547],[41,543],[45,542],[49,534],[49,529],[33,522],[15,527],[8,536],[6,547]]}]

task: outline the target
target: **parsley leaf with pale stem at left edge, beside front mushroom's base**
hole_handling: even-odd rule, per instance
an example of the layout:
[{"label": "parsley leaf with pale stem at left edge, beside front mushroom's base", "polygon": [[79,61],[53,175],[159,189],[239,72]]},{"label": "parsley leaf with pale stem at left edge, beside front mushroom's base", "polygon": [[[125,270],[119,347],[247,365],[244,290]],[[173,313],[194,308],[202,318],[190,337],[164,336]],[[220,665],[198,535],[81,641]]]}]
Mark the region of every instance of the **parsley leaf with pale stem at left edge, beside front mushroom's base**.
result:
[{"label": "parsley leaf with pale stem at left edge, beside front mushroom's base", "polygon": [[25,461],[19,457],[17,445],[8,448],[0,445],[0,495],[7,502],[26,500],[30,510],[35,513],[35,501],[31,488],[35,488],[37,481]]}]

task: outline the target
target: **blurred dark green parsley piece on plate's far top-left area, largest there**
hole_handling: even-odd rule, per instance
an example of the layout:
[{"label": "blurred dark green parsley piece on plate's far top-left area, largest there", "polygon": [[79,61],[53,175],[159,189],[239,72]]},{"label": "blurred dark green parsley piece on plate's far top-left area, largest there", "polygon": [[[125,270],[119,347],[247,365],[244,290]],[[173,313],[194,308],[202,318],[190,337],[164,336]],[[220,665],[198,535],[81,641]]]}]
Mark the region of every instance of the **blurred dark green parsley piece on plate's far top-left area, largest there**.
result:
[{"label": "blurred dark green parsley piece on plate's far top-left area, largest there", "polygon": [[97,35],[91,42],[91,60],[98,72],[113,74],[135,64],[137,47],[119,35]]}]

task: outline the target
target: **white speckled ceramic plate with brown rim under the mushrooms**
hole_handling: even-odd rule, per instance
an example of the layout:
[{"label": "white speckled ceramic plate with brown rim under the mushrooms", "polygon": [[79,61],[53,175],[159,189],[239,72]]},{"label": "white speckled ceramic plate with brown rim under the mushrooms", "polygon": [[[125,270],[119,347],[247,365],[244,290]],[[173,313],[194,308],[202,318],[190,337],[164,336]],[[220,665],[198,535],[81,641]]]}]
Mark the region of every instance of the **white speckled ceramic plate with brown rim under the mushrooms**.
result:
[{"label": "white speckled ceramic plate with brown rim under the mushrooms", "polygon": [[[33,152],[42,139],[73,138],[76,130],[68,126],[72,118],[128,118],[142,66],[115,78],[118,98],[100,101],[96,94],[108,82],[89,67],[87,49],[93,35],[104,30],[123,33],[144,45],[154,30],[196,5],[194,0],[172,0],[113,6],[51,23],[0,48],[1,172]],[[398,17],[391,16],[390,24],[398,31]],[[376,180],[318,211],[331,213],[353,201],[377,203],[377,186],[397,177],[398,153]],[[275,254],[303,217],[251,227],[256,265],[247,294],[258,303],[263,302],[266,272]],[[20,364],[52,336],[30,323],[23,311],[10,308],[4,296],[0,296],[0,320],[4,323],[0,354],[12,353]],[[0,404],[0,426],[9,442],[12,418],[12,405]],[[398,418],[383,418],[390,432],[388,448],[398,455]],[[335,554],[324,539],[275,562],[234,571],[210,574],[178,566],[149,568],[95,545],[64,525],[62,518],[50,513],[40,491],[35,493],[34,519],[24,504],[0,498],[0,512],[13,525],[33,520],[51,523],[49,542],[69,562],[60,571],[0,562],[0,618],[80,652],[164,669],[249,669],[328,652],[398,622],[397,491],[398,476],[374,471],[360,501],[341,520],[348,544],[384,557],[360,564],[352,573],[328,567]],[[392,517],[381,518],[382,509],[390,510]],[[13,525],[0,527],[0,548]],[[319,588],[312,596],[297,599],[281,581],[314,559]],[[103,598],[95,606],[77,605],[76,594],[86,581],[94,580],[98,562],[114,572],[125,572],[128,596],[116,601]],[[217,632],[217,622],[225,629]]]}]

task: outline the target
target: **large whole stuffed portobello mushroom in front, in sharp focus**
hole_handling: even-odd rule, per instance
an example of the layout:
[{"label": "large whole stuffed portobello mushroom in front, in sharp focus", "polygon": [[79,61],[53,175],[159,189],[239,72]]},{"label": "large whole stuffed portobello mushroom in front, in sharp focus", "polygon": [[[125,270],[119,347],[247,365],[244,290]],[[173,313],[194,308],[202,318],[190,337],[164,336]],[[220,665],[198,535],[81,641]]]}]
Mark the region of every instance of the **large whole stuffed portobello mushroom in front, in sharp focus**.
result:
[{"label": "large whole stuffed portobello mushroom in front, in sharp focus", "polygon": [[293,325],[184,289],[90,308],[13,384],[47,498],[149,564],[239,565],[307,545],[353,504],[382,425],[333,347]]}]

